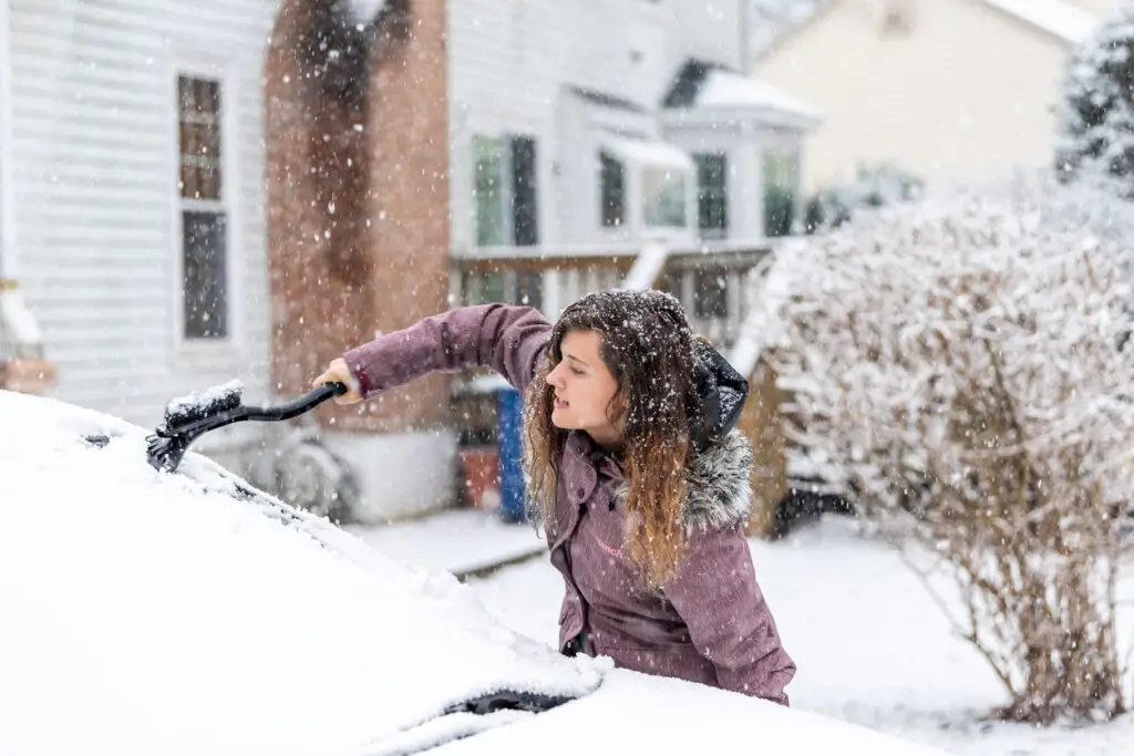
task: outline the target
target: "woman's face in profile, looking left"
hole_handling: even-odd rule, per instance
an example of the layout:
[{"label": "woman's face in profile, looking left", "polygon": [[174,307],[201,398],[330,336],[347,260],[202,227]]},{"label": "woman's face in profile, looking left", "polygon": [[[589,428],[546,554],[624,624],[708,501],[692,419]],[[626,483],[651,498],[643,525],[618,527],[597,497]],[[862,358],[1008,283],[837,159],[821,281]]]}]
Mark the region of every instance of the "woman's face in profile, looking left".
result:
[{"label": "woman's face in profile, looking left", "polygon": [[[564,337],[564,358],[547,377],[556,392],[551,422],[559,428],[586,431],[601,445],[617,448],[626,427],[626,407],[610,407],[618,380],[602,362],[601,347],[598,331],[568,331]],[[616,411],[613,422],[608,411]]]}]

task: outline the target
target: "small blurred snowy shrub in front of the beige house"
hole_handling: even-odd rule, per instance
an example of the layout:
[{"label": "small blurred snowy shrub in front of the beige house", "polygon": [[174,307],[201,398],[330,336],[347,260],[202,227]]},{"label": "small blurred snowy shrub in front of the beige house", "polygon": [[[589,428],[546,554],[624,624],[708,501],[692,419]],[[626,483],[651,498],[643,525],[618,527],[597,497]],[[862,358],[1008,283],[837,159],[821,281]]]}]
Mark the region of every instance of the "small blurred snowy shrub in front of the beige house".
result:
[{"label": "small blurred snowy shrub in front of the beige house", "polygon": [[899,202],[919,199],[924,181],[894,165],[858,168],[854,181],[820,189],[807,201],[804,229],[807,233],[838,228],[855,213]]}]

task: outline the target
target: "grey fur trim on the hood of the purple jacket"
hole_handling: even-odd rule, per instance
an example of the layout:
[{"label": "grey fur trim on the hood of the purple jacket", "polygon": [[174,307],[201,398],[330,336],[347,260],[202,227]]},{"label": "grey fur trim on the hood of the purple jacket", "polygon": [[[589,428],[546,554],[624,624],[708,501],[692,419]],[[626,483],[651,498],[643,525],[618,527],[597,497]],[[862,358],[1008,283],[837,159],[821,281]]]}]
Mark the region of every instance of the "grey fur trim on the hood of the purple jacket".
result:
[{"label": "grey fur trim on the hood of the purple jacket", "polygon": [[[734,428],[701,451],[685,470],[682,519],[686,533],[719,530],[744,521],[752,512],[752,442]],[[615,496],[625,501],[629,484]]]}]

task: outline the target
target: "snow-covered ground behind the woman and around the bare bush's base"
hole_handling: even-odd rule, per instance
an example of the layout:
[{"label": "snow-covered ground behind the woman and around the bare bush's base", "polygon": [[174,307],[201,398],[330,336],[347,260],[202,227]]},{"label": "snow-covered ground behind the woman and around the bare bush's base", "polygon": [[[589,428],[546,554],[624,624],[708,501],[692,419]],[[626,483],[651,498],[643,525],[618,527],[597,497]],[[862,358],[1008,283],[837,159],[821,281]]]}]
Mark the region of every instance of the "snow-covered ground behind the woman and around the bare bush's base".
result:
[{"label": "snow-covered ground behind the woman and around the bare bush's base", "polygon": [[[799,672],[793,706],[973,756],[1125,756],[1134,715],[1086,729],[981,722],[1004,703],[980,655],[950,631],[920,580],[882,544],[833,518],[780,543],[752,542],[758,577]],[[561,578],[545,559],[471,585],[508,626],[555,644]],[[1134,569],[1123,584],[1124,648]]]}]

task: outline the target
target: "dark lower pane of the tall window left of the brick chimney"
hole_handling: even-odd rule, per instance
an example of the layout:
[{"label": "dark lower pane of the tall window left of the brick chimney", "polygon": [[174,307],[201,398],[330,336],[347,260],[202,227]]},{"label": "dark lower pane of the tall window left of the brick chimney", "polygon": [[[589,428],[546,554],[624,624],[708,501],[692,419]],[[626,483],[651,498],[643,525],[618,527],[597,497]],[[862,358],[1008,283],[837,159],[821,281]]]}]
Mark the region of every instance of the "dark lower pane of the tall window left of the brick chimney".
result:
[{"label": "dark lower pane of the tall window left of the brick chimney", "polygon": [[223,339],[228,335],[226,221],[222,213],[181,213],[186,339]]}]

